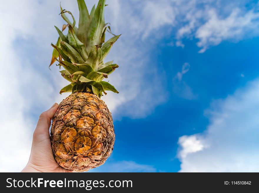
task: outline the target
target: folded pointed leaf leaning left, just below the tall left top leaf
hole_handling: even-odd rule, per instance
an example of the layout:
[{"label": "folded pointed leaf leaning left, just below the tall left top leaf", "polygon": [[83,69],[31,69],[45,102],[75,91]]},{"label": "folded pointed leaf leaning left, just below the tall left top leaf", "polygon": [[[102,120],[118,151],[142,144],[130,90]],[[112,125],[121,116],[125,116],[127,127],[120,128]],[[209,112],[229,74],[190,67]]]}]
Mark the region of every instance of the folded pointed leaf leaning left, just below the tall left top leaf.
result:
[{"label": "folded pointed leaf leaning left, just below the tall left top leaf", "polygon": [[69,45],[71,45],[83,58],[84,61],[87,60],[87,52],[86,48],[84,46],[84,43],[82,43],[77,36],[74,33],[74,29],[72,26],[69,25],[69,30],[67,34]]}]

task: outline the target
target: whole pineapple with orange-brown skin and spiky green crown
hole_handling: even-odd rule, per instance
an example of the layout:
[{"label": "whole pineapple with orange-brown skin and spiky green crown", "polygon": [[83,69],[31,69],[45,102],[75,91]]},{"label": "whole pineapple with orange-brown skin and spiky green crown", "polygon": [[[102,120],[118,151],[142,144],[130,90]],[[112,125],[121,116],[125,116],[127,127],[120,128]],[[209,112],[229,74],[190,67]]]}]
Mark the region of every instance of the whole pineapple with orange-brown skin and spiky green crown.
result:
[{"label": "whole pineapple with orange-brown skin and spiky green crown", "polygon": [[[104,22],[105,0],[88,12],[84,0],[77,0],[79,26],[71,12],[61,8],[66,21],[59,34],[50,66],[57,61],[63,67],[61,75],[70,82],[60,90],[72,92],[60,104],[52,119],[51,144],[57,163],[68,170],[88,171],[98,167],[111,155],[115,140],[112,115],[100,98],[105,91],[119,93],[104,78],[112,73],[117,64],[104,63],[113,43],[119,36],[104,42],[105,32],[110,31]],[[73,23],[65,13],[70,14]],[[68,27],[67,35],[63,34]]]}]

